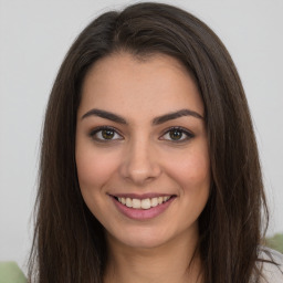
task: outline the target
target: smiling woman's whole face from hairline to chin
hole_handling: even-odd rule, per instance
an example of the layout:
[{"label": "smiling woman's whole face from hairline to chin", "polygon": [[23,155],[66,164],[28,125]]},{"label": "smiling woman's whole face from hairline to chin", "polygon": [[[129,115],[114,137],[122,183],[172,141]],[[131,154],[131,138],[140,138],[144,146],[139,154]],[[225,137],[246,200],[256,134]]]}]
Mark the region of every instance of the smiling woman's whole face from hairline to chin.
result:
[{"label": "smiling woman's whole face from hairline to chin", "polygon": [[77,112],[82,196],[107,239],[153,248],[198,235],[210,187],[203,104],[167,55],[96,62]]}]

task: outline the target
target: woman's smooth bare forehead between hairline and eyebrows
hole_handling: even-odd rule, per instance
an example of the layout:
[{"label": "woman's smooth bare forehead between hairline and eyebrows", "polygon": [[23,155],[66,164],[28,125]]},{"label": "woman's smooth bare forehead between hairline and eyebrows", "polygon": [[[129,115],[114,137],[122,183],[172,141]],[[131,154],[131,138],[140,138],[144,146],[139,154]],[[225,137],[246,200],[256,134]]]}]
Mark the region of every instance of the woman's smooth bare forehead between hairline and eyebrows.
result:
[{"label": "woman's smooth bare forehead between hairline and eyebrows", "polygon": [[191,108],[203,115],[198,87],[176,59],[155,54],[143,60],[118,53],[97,61],[85,76],[78,112],[91,107],[128,115]]}]

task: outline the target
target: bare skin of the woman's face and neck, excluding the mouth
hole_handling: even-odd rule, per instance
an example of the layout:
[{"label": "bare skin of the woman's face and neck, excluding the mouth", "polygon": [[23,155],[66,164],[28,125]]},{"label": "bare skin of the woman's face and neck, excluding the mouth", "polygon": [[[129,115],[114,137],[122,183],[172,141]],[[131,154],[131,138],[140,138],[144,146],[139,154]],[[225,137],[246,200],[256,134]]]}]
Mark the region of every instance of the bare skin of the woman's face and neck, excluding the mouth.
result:
[{"label": "bare skin of the woman's face and neck, excluding the mouth", "polygon": [[[126,124],[91,115],[93,108],[118,115]],[[199,116],[153,124],[185,108]],[[77,111],[75,157],[82,196],[106,231],[105,282],[201,282],[198,253],[188,265],[210,187],[203,115],[193,80],[174,57],[156,54],[142,61],[116,53],[88,71]],[[97,132],[102,126],[115,129],[107,140]],[[190,134],[177,129],[180,140],[172,139],[171,127]],[[134,220],[116,208],[111,196],[117,193],[175,198],[161,214]]]}]

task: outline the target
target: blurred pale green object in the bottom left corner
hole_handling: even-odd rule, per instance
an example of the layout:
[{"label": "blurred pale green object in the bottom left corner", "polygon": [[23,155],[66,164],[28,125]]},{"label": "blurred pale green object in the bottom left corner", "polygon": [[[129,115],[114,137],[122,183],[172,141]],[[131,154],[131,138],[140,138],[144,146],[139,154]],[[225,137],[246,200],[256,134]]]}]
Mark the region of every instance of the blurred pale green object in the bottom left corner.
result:
[{"label": "blurred pale green object in the bottom left corner", "polygon": [[0,283],[27,283],[27,279],[15,262],[0,262]]}]

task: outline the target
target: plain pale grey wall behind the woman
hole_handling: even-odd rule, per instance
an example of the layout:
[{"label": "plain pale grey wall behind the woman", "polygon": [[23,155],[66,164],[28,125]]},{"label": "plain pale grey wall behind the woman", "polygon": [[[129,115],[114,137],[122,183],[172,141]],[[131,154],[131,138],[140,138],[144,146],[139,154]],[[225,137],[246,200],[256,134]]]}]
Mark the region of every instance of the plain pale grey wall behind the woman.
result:
[{"label": "plain pale grey wall behind the woman", "polygon": [[[0,0],[0,261],[25,270],[32,239],[40,136],[59,66],[95,17],[136,1]],[[187,0],[230,51],[254,120],[271,210],[283,231],[283,1]]]}]

